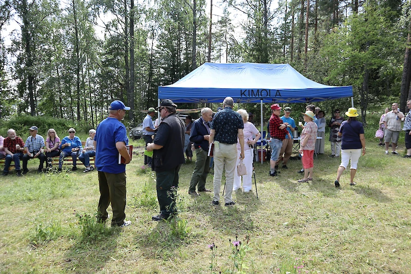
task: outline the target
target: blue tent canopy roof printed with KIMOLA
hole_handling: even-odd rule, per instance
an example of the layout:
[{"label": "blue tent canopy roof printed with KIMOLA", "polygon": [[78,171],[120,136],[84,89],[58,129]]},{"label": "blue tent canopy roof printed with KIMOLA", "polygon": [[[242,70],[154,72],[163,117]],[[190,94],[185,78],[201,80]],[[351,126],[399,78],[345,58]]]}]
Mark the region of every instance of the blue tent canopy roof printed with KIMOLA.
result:
[{"label": "blue tent canopy roof printed with KIMOLA", "polygon": [[289,64],[204,63],[174,84],[158,87],[173,102],[308,103],[352,96],[351,86],[327,86],[305,78]]}]

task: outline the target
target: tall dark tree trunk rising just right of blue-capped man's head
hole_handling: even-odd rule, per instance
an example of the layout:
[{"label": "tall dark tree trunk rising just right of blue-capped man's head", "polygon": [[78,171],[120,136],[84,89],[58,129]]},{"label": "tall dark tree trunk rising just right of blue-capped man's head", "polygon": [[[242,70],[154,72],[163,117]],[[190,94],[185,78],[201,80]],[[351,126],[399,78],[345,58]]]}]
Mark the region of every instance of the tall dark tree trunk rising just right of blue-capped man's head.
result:
[{"label": "tall dark tree trunk rising just right of blue-capped man's head", "polygon": [[130,1],[130,88],[127,93],[128,106],[130,111],[128,112],[128,118],[131,125],[134,127],[136,122],[134,119],[134,0]]}]

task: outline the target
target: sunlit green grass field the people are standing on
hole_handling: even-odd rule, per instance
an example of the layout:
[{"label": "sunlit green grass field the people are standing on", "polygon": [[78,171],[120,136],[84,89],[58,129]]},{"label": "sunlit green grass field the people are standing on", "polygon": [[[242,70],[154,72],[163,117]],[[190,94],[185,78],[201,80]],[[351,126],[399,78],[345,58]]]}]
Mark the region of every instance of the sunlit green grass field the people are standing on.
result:
[{"label": "sunlit green grass field the people are standing on", "polygon": [[[188,195],[194,163],[183,165],[178,218],[160,223],[151,221],[158,213],[155,176],[142,171],[137,149],[127,166],[133,224],[124,229],[95,223],[96,171],[2,177],[0,273],[409,273],[410,162],[384,155],[377,143],[367,136],[355,187],[345,172],[341,189],[334,188],[340,160],[328,157],[326,142],[312,182],[297,183],[300,161],[290,160],[277,177],[269,176],[268,163],[256,163],[259,198],[254,186],[237,191],[230,208],[212,206],[211,193]],[[399,143],[403,152],[403,137]],[[30,170],[37,165],[29,161]],[[236,236],[242,246],[249,239],[241,257],[234,257]]]}]

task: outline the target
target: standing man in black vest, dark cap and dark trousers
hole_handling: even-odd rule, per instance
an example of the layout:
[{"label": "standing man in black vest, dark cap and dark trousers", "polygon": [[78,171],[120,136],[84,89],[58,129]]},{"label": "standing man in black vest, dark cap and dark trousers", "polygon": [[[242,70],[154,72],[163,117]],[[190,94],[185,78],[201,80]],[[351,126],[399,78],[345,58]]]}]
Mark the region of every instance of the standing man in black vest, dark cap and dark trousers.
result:
[{"label": "standing man in black vest, dark cap and dark trousers", "polygon": [[153,151],[152,170],[156,171],[157,199],[160,214],[153,221],[169,218],[176,213],[178,172],[184,163],[183,120],[176,116],[177,105],[165,99],[157,107],[162,121],[156,130],[153,143],[147,144],[147,151]]}]

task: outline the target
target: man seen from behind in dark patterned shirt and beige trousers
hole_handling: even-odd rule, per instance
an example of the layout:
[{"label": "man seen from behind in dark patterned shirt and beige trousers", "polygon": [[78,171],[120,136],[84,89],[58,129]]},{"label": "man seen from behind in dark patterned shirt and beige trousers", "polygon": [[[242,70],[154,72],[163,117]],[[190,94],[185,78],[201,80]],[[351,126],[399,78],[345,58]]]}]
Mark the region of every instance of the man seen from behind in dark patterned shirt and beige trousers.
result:
[{"label": "man seen from behind in dark patterned shirt and beige trousers", "polygon": [[241,159],[244,158],[244,123],[239,113],[233,111],[234,101],[226,97],[222,102],[224,109],[214,115],[211,124],[209,144],[214,141],[214,197],[212,204],[217,206],[220,200],[222,169],[226,169],[225,206],[233,206],[232,192],[237,158],[237,135],[241,147]]}]

